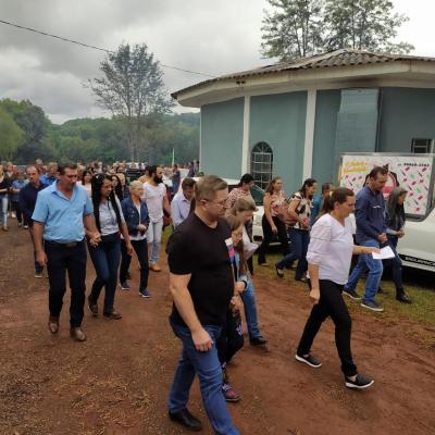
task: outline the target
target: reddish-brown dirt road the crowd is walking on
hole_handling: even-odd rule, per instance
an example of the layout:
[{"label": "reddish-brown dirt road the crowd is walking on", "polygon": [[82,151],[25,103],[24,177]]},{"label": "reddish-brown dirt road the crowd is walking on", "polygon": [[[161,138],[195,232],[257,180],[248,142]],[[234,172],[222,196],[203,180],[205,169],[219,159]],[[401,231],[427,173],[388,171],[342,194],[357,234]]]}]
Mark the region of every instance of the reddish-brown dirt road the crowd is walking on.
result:
[{"label": "reddish-brown dirt road the crowd is walking on", "polygon": [[[11,226],[14,226],[12,222]],[[33,276],[28,234],[0,234],[0,434],[170,435],[184,433],[166,418],[165,402],[179,343],[167,315],[167,268],[152,274],[152,299],[117,291],[121,321],[86,312],[86,343],[69,337],[65,297],[61,331],[47,330],[47,279]],[[163,263],[163,261],[162,261]],[[94,271],[88,268],[88,288]],[[435,434],[435,331],[403,319],[357,312],[353,353],[361,372],[375,378],[366,391],[343,383],[326,322],[313,351],[323,366],[295,361],[309,312],[303,286],[256,278],[260,324],[270,345],[247,344],[229,368],[243,395],[231,412],[241,434]],[[190,409],[212,434],[198,385]]]}]

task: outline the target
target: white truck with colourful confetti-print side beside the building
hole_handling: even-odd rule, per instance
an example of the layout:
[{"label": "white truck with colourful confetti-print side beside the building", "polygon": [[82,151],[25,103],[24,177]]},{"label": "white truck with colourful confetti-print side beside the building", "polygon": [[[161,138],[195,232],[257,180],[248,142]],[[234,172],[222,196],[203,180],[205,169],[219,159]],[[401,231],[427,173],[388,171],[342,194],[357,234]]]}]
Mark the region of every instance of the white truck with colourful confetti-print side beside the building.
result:
[{"label": "white truck with colourful confetti-print side beside the building", "polygon": [[435,154],[344,153],[340,186],[357,194],[374,166],[388,170],[385,198],[396,186],[408,190],[405,237],[398,245],[403,265],[435,272]]}]

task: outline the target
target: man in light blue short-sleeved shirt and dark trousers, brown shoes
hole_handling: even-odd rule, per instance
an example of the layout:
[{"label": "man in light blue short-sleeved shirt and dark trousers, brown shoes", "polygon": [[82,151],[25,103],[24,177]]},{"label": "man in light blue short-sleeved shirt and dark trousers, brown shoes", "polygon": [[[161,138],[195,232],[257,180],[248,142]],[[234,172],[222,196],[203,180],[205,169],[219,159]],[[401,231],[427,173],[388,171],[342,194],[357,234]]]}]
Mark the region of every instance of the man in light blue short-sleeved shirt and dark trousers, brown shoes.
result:
[{"label": "man in light blue short-sleeved shirt and dark trousers, brown shoes", "polygon": [[52,334],[59,331],[67,272],[71,287],[70,333],[75,340],[84,341],[86,336],[82,331],[82,321],[86,291],[85,229],[92,245],[98,245],[100,234],[95,224],[89,197],[76,182],[76,164],[60,166],[58,181],[38,194],[32,219],[36,259],[40,265],[47,263],[50,282],[49,330]]}]

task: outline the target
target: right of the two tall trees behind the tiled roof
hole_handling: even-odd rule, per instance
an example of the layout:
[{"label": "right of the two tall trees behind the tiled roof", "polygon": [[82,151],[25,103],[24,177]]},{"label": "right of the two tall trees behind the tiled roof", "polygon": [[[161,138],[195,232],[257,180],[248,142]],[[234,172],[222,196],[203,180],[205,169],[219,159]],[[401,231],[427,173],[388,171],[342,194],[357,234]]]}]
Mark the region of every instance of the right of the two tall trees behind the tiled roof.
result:
[{"label": "right of the two tall trees behind the tiled roof", "polygon": [[326,49],[409,53],[412,45],[395,42],[397,29],[408,20],[394,12],[390,0],[326,0]]}]

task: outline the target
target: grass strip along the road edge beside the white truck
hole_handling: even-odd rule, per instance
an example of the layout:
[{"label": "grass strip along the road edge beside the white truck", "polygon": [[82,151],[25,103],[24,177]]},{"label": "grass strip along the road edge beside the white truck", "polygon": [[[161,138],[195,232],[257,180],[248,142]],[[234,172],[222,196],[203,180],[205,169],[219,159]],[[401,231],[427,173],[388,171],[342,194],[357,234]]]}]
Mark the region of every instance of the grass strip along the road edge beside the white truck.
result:
[{"label": "grass strip along the road edge beside the white truck", "polygon": [[[269,253],[268,263],[269,268],[261,268],[257,265],[257,258],[254,259],[256,274],[262,278],[279,279],[279,282],[291,283],[297,289],[307,293],[307,285],[303,283],[295,282],[295,271],[285,270],[285,277],[283,279],[276,276],[274,263],[282,259],[281,254]],[[415,270],[403,270],[405,289],[412,299],[412,303],[400,303],[396,301],[396,290],[393,282],[388,278],[383,279],[381,287],[383,294],[376,296],[376,300],[384,304],[385,311],[376,313],[386,321],[405,318],[417,321],[425,327],[435,327],[435,291],[434,291],[434,275]],[[364,279],[358,283],[357,291],[360,295],[364,293]],[[359,303],[348,301],[350,312],[366,312]],[[369,314],[369,313],[368,313]]]}]

